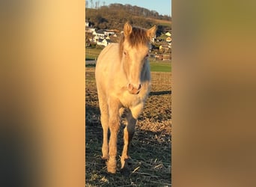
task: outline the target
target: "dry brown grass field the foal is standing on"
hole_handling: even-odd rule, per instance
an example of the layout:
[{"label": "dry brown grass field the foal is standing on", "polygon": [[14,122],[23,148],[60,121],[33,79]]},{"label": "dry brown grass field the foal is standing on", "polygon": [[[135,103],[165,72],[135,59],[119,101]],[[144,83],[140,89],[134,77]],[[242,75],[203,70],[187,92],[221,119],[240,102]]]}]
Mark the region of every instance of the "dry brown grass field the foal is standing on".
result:
[{"label": "dry brown grass field the foal is standing on", "polygon": [[[108,174],[101,160],[102,128],[94,68],[85,70],[85,186],[171,186],[171,73],[153,72],[152,89],[129,149],[131,173]],[[123,147],[122,118],[118,156]]]}]

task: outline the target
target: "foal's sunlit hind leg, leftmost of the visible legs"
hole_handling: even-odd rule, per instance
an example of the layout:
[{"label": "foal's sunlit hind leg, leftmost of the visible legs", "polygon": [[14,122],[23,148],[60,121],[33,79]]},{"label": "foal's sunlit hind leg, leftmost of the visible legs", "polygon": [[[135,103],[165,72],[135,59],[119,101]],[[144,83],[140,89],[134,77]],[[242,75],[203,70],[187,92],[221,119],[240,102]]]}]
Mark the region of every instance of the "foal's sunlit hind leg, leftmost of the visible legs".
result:
[{"label": "foal's sunlit hind leg, leftmost of the visible legs", "polygon": [[108,144],[108,132],[109,132],[109,108],[106,102],[106,99],[99,94],[99,103],[100,103],[100,121],[101,126],[103,127],[103,147],[102,159],[109,158],[109,144]]}]

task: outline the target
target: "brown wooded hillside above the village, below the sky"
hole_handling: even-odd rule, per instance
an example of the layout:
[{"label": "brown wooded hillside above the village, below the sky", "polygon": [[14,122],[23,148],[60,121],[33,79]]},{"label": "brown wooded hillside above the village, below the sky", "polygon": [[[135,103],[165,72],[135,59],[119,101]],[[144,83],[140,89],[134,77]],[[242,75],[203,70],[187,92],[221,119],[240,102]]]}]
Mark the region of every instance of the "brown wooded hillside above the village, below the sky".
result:
[{"label": "brown wooded hillside above the village, below the sky", "polygon": [[85,19],[91,26],[98,29],[122,30],[124,22],[150,28],[158,26],[157,34],[171,30],[171,17],[159,15],[154,10],[144,7],[132,6],[130,4],[109,4],[97,9],[85,8]]}]

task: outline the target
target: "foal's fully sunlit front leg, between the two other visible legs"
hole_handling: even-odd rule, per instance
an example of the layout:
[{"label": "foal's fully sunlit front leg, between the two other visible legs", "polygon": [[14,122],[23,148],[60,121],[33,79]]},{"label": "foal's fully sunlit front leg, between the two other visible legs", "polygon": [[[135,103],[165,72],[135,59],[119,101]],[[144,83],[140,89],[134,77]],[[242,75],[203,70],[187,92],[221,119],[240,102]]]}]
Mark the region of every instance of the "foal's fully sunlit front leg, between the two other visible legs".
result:
[{"label": "foal's fully sunlit front leg, between the two other visible legs", "polygon": [[120,105],[118,100],[109,99],[109,160],[106,162],[107,170],[109,173],[115,174],[117,169],[116,156],[118,152],[117,141],[118,132],[120,129],[119,109]]}]

